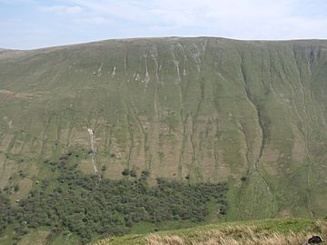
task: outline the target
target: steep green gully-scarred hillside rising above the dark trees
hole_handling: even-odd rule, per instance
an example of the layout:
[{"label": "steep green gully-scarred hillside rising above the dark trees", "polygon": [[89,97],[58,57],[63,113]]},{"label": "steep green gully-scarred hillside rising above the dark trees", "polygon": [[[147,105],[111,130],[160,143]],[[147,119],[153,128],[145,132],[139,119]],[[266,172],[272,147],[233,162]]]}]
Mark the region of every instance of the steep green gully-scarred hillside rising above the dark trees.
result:
[{"label": "steep green gully-scarred hillside rising above the dark trees", "polygon": [[104,178],[127,168],[229,181],[229,219],[322,216],[326,92],[327,41],[172,37],[0,52],[0,187],[18,183],[24,197],[51,174],[45,160],[72,151]]}]

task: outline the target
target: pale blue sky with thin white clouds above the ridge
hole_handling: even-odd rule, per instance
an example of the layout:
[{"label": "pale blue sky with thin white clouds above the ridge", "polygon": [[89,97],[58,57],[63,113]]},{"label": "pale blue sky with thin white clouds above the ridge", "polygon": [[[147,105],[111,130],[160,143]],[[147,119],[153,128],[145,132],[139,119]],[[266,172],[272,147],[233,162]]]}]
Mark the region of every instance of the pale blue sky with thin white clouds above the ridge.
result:
[{"label": "pale blue sky with thin white clouds above the ridge", "polygon": [[114,38],[327,39],[327,0],[0,0],[0,47]]}]

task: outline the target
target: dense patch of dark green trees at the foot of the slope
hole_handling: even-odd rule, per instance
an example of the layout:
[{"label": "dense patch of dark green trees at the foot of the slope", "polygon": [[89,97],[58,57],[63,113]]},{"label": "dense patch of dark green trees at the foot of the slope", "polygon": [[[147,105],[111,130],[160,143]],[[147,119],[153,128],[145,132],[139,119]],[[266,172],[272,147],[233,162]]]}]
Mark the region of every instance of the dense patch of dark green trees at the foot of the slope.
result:
[{"label": "dense patch of dark green trees at the foot of the slope", "polygon": [[15,207],[14,219],[5,220],[2,211],[7,210],[8,202],[0,203],[1,227],[15,220],[17,230],[41,226],[56,232],[70,230],[86,243],[95,234],[128,233],[140,221],[201,221],[208,214],[208,201],[213,199],[221,203],[222,214],[228,206],[226,183],[191,185],[157,179],[157,186],[150,187],[146,183],[148,171],[134,181],[99,181],[97,176],[69,165],[69,157],[52,163],[51,168],[58,171],[58,177],[40,181]]}]

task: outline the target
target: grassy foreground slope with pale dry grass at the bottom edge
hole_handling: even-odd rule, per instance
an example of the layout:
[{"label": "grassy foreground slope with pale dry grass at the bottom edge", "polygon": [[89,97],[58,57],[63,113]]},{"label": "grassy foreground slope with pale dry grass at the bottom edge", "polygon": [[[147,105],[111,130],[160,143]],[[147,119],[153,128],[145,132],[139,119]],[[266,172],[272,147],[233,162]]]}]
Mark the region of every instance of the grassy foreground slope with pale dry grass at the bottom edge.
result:
[{"label": "grassy foreground slope with pale dry grass at the bottom edge", "polygon": [[312,235],[320,235],[322,238],[327,236],[326,220],[279,219],[229,222],[187,230],[113,237],[96,241],[92,245],[299,245]]}]

